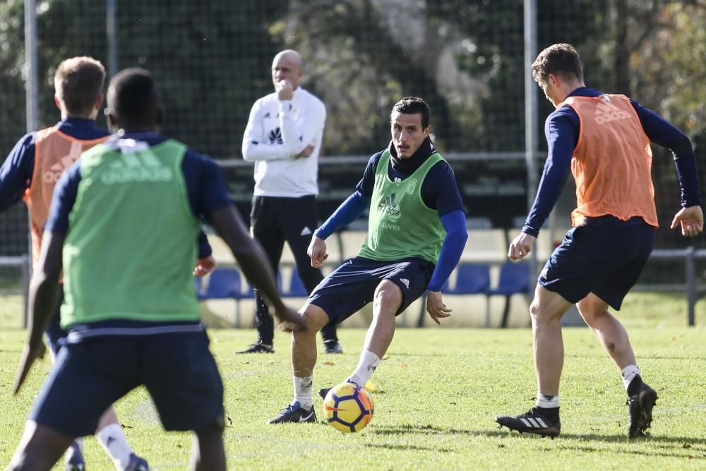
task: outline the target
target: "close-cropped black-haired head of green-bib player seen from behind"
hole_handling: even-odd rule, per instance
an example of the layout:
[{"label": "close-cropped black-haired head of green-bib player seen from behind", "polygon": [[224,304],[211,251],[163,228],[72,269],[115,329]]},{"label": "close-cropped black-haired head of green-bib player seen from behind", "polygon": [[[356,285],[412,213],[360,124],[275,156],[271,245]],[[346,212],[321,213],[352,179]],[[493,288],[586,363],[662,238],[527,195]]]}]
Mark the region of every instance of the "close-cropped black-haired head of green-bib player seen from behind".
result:
[{"label": "close-cropped black-haired head of green-bib player seen from behind", "polygon": [[144,68],[126,68],[116,73],[110,81],[108,106],[114,109],[122,126],[159,124],[160,100],[152,73]]}]

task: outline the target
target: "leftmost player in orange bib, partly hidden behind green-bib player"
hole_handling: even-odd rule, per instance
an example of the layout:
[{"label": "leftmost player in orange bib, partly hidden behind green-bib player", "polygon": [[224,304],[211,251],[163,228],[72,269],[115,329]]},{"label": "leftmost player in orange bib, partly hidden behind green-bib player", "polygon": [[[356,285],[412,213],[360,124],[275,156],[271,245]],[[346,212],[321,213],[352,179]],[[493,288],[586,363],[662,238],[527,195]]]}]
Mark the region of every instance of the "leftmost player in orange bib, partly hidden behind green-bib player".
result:
[{"label": "leftmost player in orange bib, partly hidden behind green-bib player", "polygon": [[[54,74],[54,102],[61,111],[61,121],[56,126],[23,136],[0,168],[0,211],[21,199],[30,210],[35,270],[56,181],[83,150],[102,143],[109,136],[95,125],[103,102],[104,81],[105,69],[100,61],[85,56],[62,61]],[[210,252],[210,246],[206,247]],[[52,357],[56,357],[66,338],[66,332],[59,326],[58,309],[49,322],[46,337]],[[95,436],[118,470],[148,469],[145,460],[135,455],[128,445],[112,406],[98,422]],[[83,470],[84,467],[83,439],[78,439],[66,451],[66,470]]]}]

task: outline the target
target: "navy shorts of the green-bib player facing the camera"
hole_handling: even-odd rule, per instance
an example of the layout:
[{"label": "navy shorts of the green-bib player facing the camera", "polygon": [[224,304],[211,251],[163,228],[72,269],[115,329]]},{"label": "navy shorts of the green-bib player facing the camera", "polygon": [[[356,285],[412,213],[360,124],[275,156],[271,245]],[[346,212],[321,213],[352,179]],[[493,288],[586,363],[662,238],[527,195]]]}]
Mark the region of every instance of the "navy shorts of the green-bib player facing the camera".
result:
[{"label": "navy shorts of the green-bib player facing the camera", "polygon": [[402,290],[402,306],[407,309],[424,294],[429,285],[434,264],[421,258],[400,261],[375,261],[369,258],[349,258],[314,288],[307,302],[320,307],[332,323],[340,323],[373,301],[382,280],[390,280]]}]

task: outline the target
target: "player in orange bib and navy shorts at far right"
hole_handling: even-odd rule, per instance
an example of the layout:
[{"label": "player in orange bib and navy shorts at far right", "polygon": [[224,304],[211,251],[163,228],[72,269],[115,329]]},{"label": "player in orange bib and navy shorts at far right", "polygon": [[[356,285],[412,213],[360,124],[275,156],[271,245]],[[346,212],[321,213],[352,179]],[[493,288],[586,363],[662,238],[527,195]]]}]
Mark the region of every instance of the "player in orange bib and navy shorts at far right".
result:
[{"label": "player in orange bib and navy shorts at far right", "polygon": [[530,253],[569,172],[576,180],[577,207],[571,214],[573,229],[546,262],[530,306],[536,406],[496,421],[520,432],[559,434],[561,316],[576,304],[621,371],[632,439],[650,427],[657,393],[642,381],[628,333],[608,306],[620,309],[654,245],[657,210],[650,142],[674,153],[682,208],[671,228],[681,227],[685,237],[702,232],[693,148],[681,131],[638,102],[587,88],[578,52],[569,44],[554,44],[539,53],[532,75],[556,111],[544,125],[549,155],[537,198],[508,257],[520,260]]}]

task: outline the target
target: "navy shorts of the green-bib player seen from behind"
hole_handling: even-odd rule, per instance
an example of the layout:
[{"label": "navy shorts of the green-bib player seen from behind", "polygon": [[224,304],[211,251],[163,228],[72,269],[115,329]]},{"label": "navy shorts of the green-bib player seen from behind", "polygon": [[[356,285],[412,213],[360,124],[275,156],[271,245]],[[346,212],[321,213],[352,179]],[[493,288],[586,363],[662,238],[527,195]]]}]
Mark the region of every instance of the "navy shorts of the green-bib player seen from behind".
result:
[{"label": "navy shorts of the green-bib player seen from behind", "polygon": [[64,345],[29,418],[71,438],[91,435],[109,405],[143,384],[164,429],[203,429],[223,414],[220,374],[198,332]]}]

